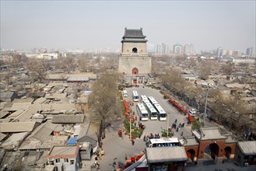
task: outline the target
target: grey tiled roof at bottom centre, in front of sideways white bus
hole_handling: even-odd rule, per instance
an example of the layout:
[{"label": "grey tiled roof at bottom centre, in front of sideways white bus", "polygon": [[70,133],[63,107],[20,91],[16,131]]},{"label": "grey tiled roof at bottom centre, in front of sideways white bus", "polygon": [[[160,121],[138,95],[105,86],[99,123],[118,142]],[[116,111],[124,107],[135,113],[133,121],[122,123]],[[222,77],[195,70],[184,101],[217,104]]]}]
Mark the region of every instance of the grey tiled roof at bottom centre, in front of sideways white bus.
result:
[{"label": "grey tiled roof at bottom centre, in front of sideways white bus", "polygon": [[188,161],[184,147],[146,148],[146,159],[149,163]]}]

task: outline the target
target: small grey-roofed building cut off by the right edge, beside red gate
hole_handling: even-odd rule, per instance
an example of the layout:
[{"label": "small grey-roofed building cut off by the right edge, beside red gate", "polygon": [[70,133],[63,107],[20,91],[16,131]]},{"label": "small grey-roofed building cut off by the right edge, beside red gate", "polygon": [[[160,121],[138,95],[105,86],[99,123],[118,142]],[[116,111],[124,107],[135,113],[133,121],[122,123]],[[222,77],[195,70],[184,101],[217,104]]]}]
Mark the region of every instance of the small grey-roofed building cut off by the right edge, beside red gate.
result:
[{"label": "small grey-roofed building cut off by the right edge, beside red gate", "polygon": [[238,142],[235,160],[240,166],[256,165],[256,141]]}]

